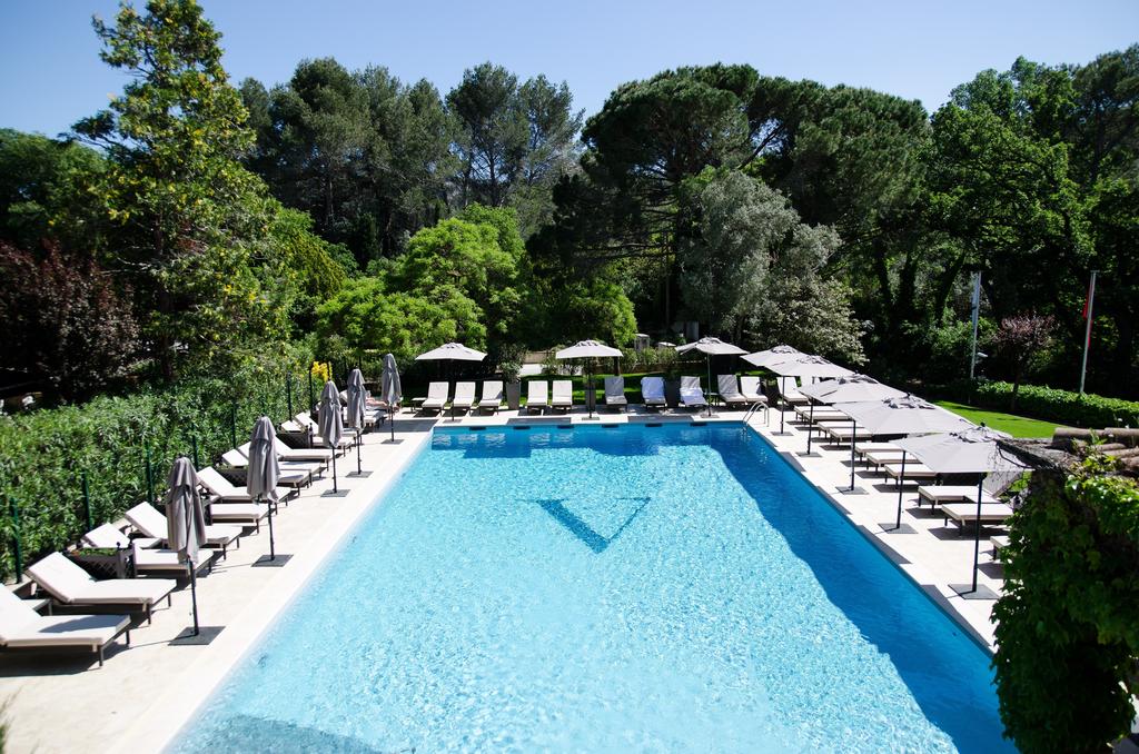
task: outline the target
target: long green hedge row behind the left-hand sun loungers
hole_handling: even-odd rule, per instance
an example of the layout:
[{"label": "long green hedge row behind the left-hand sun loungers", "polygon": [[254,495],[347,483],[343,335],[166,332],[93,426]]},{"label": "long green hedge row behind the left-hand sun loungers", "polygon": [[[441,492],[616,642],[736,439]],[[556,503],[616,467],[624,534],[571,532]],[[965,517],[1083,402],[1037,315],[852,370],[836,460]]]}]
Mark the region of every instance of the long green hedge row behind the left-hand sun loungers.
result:
[{"label": "long green hedge row behind the left-hand sun loungers", "polygon": [[[288,382],[288,388],[286,387]],[[319,390],[319,386],[314,386]],[[83,476],[92,521],[114,521],[147,498],[147,458],[155,497],[178,456],[212,464],[246,442],[261,415],[274,423],[308,403],[308,379],[296,363],[269,374],[228,379],[198,378],[175,386],[142,388],[126,396],[100,396],[81,405],[0,416],[0,574],[14,573],[18,506],[23,562],[74,543],[87,531]]]}]

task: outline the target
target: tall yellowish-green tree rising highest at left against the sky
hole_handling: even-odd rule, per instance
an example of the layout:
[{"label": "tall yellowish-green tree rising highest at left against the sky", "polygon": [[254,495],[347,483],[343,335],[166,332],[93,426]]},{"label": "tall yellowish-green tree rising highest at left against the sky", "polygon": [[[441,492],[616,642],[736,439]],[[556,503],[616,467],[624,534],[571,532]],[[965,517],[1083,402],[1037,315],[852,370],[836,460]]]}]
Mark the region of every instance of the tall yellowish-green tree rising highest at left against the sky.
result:
[{"label": "tall yellowish-green tree rising highest at left against the sky", "polygon": [[106,260],[132,281],[161,375],[281,337],[290,292],[264,243],[274,204],[238,162],[253,134],[220,35],[194,0],[149,0],[141,15],[123,6],[115,26],[93,26],[101,58],[133,80],[75,131],[106,150],[97,189],[115,223]]}]

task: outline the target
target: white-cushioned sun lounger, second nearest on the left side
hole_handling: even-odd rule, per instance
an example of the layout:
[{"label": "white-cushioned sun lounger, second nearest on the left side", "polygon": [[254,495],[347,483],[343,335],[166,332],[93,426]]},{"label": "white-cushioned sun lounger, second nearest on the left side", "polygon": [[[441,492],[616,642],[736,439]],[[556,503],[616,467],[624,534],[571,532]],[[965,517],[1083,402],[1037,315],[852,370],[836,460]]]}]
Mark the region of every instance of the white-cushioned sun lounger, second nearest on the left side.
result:
[{"label": "white-cushioned sun lounger, second nearest on the left side", "polygon": [[27,575],[63,605],[92,606],[121,605],[145,610],[150,622],[150,610],[163,597],[170,603],[170,592],[178,582],[173,579],[110,579],[96,581],[87,571],[52,552],[27,568]]}]

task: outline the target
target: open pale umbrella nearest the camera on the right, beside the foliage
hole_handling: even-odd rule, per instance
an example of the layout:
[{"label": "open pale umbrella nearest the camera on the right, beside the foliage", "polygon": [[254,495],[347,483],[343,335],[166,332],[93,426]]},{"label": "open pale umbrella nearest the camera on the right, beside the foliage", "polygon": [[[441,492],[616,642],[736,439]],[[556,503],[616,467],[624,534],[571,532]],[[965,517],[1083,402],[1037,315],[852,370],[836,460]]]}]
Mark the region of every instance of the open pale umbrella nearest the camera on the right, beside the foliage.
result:
[{"label": "open pale umbrella nearest the camera on the right, beside the foliage", "polygon": [[[985,476],[992,473],[1024,472],[1027,466],[1018,458],[1006,453],[997,443],[1008,440],[1008,433],[984,425],[957,432],[906,437],[894,444],[902,449],[902,474],[906,473],[906,454],[912,453],[919,461],[939,474],[977,474],[977,519],[974,522],[973,539],[973,584],[962,595],[977,592],[977,568],[981,560],[981,501],[984,498]],[[901,482],[901,477],[899,477]],[[902,524],[902,490],[898,489],[898,522]]]}]

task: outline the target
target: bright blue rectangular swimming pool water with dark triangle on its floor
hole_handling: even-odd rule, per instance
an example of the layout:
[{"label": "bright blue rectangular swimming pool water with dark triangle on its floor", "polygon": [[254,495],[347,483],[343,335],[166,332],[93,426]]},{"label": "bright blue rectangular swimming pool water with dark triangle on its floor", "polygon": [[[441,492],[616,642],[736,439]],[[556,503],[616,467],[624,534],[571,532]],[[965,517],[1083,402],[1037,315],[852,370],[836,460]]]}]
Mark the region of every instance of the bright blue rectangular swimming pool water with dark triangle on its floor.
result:
[{"label": "bright blue rectangular swimming pool water with dark triangle on its floor", "polygon": [[740,425],[437,429],[174,749],[1010,749],[991,681]]}]

